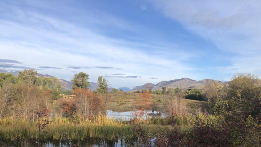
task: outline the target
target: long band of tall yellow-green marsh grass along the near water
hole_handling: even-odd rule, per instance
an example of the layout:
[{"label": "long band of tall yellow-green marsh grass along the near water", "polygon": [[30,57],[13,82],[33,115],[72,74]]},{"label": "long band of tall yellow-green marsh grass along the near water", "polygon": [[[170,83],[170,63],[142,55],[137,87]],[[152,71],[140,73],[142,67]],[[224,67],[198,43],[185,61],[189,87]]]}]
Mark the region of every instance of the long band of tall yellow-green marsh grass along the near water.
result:
[{"label": "long band of tall yellow-green marsh grass along the near water", "polygon": [[[202,119],[207,122],[215,122],[216,117],[203,114],[193,116],[191,114],[176,115],[176,125],[180,131],[191,129],[196,119]],[[132,119],[131,121],[124,121],[121,119],[109,118],[108,116],[98,115],[92,119],[80,119],[77,122],[66,117],[55,117],[51,123],[41,130],[41,139],[72,139],[84,140],[86,138],[105,138],[109,140],[123,139],[125,135],[134,135],[131,131],[131,125],[141,123],[146,126],[146,129],[153,134],[160,133],[166,128],[171,129],[170,119],[151,117],[148,119]],[[207,121],[211,120],[211,121]],[[131,123],[130,123],[131,122]],[[161,130],[160,130],[161,129]],[[35,122],[26,121],[23,119],[0,119],[0,138],[14,139],[21,138],[35,138],[38,137],[38,130]]]}]

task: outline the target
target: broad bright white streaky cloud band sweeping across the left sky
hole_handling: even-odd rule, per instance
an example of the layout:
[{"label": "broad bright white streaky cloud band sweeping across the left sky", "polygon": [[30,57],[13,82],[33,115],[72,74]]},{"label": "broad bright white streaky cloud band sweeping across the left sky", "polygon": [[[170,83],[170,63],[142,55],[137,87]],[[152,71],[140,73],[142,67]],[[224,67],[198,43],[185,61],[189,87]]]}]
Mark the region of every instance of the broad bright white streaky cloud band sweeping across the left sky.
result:
[{"label": "broad bright white streaky cloud band sweeping across the left sky", "polygon": [[[184,74],[184,71],[197,70],[182,63],[195,56],[192,52],[182,51],[182,48],[173,49],[176,57],[170,59],[165,57],[166,47],[161,44],[153,46],[150,43],[115,39],[103,35],[102,30],[93,29],[92,25],[83,26],[73,23],[73,21],[57,19],[48,14],[8,6],[12,11],[3,10],[2,15],[5,16],[5,19],[0,18],[0,58],[18,60],[29,64],[28,66],[32,68],[39,68],[39,66],[62,68],[62,70],[39,69],[39,73],[53,72],[54,76],[58,78],[72,78],[72,69],[67,68],[67,65],[115,67],[122,68],[125,76],[157,76],[160,81],[164,79],[165,75],[173,72],[177,78],[185,76],[191,78],[191,74]],[[100,19],[96,19],[95,22],[102,22]],[[121,19],[115,18],[114,20],[119,21],[111,23],[122,22]],[[121,25],[122,28],[132,30],[129,26],[131,25]],[[155,51],[146,51],[137,46],[144,48],[150,46],[150,48],[155,48]],[[74,72],[79,71],[88,73],[93,82],[99,75],[118,72],[117,69],[112,68],[86,68]],[[150,80],[149,78],[109,79],[114,87],[139,85]]]}]

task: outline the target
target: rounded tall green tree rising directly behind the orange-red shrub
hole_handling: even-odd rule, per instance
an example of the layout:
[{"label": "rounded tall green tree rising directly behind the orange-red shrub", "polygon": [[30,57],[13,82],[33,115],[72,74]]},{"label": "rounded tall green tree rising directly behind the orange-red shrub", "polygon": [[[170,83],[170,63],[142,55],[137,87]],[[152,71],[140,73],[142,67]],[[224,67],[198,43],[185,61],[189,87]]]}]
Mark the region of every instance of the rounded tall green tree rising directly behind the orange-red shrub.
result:
[{"label": "rounded tall green tree rising directly behind the orange-red shrub", "polygon": [[74,77],[72,79],[72,89],[82,88],[82,89],[88,89],[88,86],[90,85],[89,81],[89,75],[83,72],[79,72],[78,74],[74,74]]}]

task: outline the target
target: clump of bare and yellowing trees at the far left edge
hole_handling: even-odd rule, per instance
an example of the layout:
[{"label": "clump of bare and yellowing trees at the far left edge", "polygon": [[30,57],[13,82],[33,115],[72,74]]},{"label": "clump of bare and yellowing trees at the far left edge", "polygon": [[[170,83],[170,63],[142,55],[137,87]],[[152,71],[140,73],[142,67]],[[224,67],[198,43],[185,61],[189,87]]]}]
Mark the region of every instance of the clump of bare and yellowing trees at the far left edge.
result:
[{"label": "clump of bare and yellowing trees at the far left edge", "polygon": [[34,122],[37,113],[50,115],[51,95],[54,91],[58,95],[60,92],[57,78],[43,79],[34,69],[20,71],[18,76],[1,73],[0,78],[0,118],[23,118]]}]

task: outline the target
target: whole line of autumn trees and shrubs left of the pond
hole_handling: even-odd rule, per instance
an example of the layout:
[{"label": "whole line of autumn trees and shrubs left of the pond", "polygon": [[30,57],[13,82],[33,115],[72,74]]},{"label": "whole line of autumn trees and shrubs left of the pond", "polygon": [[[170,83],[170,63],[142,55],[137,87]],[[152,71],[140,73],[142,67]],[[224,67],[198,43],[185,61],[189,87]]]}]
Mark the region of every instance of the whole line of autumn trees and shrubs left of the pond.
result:
[{"label": "whole line of autumn trees and shrubs left of the pond", "polygon": [[[107,80],[99,76],[98,88],[91,91],[88,79],[89,75],[83,72],[74,75],[72,94],[75,97],[59,104],[61,115],[92,117],[105,112],[109,101]],[[34,122],[39,113],[50,116],[52,100],[60,98],[60,93],[61,84],[56,77],[38,76],[34,69],[24,69],[18,76],[1,73],[0,118],[22,118]]]}]

